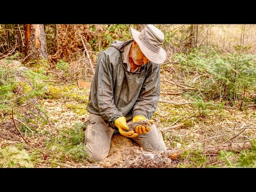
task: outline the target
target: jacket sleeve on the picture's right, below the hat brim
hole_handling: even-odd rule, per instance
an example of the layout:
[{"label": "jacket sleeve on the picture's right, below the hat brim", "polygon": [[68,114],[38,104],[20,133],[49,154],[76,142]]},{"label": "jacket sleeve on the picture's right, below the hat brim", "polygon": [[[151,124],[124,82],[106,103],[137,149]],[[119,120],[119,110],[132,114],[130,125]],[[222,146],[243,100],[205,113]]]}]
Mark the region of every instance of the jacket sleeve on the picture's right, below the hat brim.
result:
[{"label": "jacket sleeve on the picture's right, below the hat brim", "polygon": [[133,117],[142,115],[148,119],[154,115],[160,97],[160,65],[151,63],[147,66],[147,74],[139,97],[133,106]]}]

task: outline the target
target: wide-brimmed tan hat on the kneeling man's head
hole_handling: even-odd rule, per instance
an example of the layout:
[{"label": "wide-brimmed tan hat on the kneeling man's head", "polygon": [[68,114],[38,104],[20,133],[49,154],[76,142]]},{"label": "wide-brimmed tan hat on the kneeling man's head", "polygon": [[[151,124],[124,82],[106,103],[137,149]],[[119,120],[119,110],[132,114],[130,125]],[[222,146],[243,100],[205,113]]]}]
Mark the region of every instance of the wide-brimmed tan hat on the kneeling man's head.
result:
[{"label": "wide-brimmed tan hat on the kneeling man's head", "polygon": [[147,25],[141,32],[131,27],[134,41],[139,45],[142,53],[149,61],[161,64],[166,59],[166,52],[162,48],[164,34],[153,25]]}]

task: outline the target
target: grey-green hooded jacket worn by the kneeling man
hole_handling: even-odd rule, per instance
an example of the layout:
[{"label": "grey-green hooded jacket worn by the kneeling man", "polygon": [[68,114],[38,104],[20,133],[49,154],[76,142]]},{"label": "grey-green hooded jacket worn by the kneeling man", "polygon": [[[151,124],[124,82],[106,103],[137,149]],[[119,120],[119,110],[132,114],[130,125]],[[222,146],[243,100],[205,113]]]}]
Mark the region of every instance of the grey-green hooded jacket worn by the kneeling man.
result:
[{"label": "grey-green hooded jacket worn by the kneeling man", "polygon": [[116,118],[153,116],[160,94],[160,65],[148,62],[135,73],[123,63],[124,47],[131,41],[115,41],[98,58],[87,111],[100,115],[109,126]]}]

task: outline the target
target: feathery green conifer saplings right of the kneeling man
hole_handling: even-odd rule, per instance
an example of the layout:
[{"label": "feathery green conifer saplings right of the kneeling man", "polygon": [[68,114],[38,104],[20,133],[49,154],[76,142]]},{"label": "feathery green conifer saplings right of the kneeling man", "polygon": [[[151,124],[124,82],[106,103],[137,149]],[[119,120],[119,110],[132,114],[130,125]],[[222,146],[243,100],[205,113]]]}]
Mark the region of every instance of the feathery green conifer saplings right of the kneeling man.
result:
[{"label": "feathery green conifer saplings right of the kneeling man", "polygon": [[202,75],[196,86],[205,90],[207,100],[218,100],[221,95],[222,100],[229,101],[232,106],[234,101],[242,99],[244,91],[255,89],[256,55],[220,54],[201,49],[194,49],[188,55],[176,54],[174,58],[186,74],[197,71]]}]

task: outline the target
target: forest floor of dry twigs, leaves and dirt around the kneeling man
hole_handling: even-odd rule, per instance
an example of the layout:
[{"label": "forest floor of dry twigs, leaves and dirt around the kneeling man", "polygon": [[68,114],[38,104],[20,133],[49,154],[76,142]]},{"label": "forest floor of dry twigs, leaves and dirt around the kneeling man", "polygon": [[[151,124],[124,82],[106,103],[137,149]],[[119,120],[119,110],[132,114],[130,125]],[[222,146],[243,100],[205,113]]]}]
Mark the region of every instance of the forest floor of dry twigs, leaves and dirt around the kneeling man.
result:
[{"label": "forest floor of dry twigs, leaves and dirt around the kneeling man", "polygon": [[[196,109],[192,101],[184,94],[172,95],[179,87],[170,83],[170,77],[161,77],[161,97],[153,120],[161,130],[167,147],[167,152],[151,153],[140,148],[132,139],[120,134],[114,134],[111,140],[109,156],[101,162],[89,163],[86,156],[76,156],[74,151],[65,153],[61,149],[61,138],[66,137],[67,146],[83,145],[83,124],[89,119],[86,105],[90,92],[87,87],[79,88],[77,84],[54,84],[52,87],[60,93],[55,99],[41,99],[39,102],[49,115],[49,124],[39,127],[37,134],[27,134],[29,147],[13,130],[2,133],[8,135],[7,140],[0,142],[0,147],[23,143],[30,155],[31,167],[227,167],[235,164],[239,153],[222,155],[221,149],[230,149],[238,144],[241,150],[256,135],[255,107],[246,110],[235,108]],[[174,82],[174,81],[173,81]],[[178,82],[176,82],[178,83]],[[80,125],[77,129],[76,125]],[[175,127],[175,125],[178,125]],[[73,130],[74,132],[70,132]],[[82,130],[82,131],[81,131]],[[5,131],[5,132],[4,132]],[[75,133],[75,137],[74,137]],[[72,135],[73,134],[73,135]],[[79,136],[77,136],[79,135]],[[82,136],[81,136],[82,135]],[[78,140],[74,141],[74,138]],[[81,139],[82,138],[82,139]],[[71,141],[72,140],[72,141]],[[73,142],[73,143],[72,143]],[[75,144],[74,144],[75,143]],[[58,144],[58,145],[57,145]],[[220,146],[214,149],[217,153],[206,150],[208,147]],[[1,148],[0,148],[1,149]],[[35,151],[39,149],[40,152]],[[81,148],[80,148],[81,149]],[[193,153],[186,153],[186,151]],[[184,153],[181,153],[181,152]],[[81,150],[78,151],[82,153]],[[183,154],[183,155],[182,155]],[[1,162],[0,162],[1,163]],[[6,165],[7,166],[7,165]]]}]

